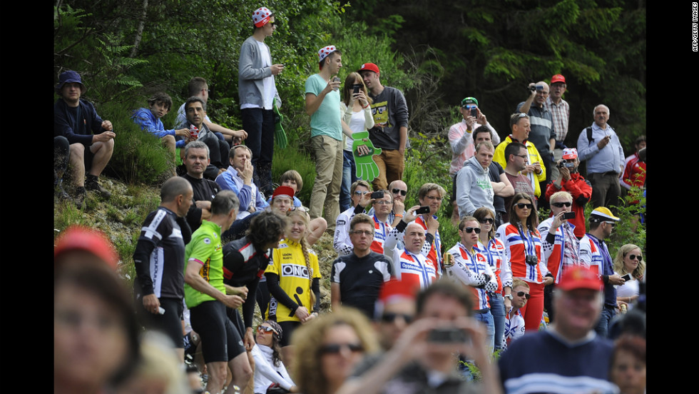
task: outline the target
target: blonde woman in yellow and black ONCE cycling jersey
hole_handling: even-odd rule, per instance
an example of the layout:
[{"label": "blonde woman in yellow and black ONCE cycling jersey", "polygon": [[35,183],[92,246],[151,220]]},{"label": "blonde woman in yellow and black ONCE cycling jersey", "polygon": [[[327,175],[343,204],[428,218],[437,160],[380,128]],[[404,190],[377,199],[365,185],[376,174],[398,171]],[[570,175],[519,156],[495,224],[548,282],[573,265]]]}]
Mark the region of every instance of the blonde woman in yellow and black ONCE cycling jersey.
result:
[{"label": "blonde woman in yellow and black ONCE cycling jersey", "polygon": [[306,237],[310,218],[303,207],[286,212],[287,229],[272,263],[265,270],[270,300],[267,318],[281,326],[282,360],[289,365],[293,348],[290,338],[296,328],[310,322],[320,310],[320,266]]}]

